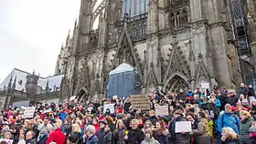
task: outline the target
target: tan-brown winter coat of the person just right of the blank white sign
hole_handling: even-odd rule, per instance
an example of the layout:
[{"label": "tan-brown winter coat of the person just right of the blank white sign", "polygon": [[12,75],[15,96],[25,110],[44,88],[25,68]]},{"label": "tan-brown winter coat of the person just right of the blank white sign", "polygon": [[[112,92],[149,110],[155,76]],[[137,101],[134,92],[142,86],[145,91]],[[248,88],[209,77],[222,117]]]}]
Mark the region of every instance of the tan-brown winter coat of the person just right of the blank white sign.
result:
[{"label": "tan-brown winter coat of the person just right of the blank white sign", "polygon": [[197,135],[197,144],[210,143],[207,118],[199,119],[197,129],[194,132]]}]

